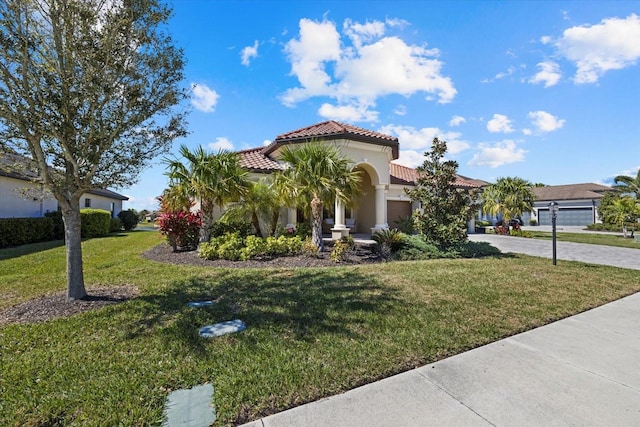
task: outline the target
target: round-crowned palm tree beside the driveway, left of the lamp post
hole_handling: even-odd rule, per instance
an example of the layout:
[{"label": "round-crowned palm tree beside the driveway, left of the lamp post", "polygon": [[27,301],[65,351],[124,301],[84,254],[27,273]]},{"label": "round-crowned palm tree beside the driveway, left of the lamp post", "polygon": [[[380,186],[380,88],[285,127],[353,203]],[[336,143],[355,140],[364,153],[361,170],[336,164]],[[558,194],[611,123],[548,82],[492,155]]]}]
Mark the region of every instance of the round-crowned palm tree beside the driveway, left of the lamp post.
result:
[{"label": "round-crowned palm tree beside the driveway, left of the lamp post", "polygon": [[482,210],[491,216],[502,214],[503,224],[533,209],[533,185],[522,178],[498,178],[482,193]]}]

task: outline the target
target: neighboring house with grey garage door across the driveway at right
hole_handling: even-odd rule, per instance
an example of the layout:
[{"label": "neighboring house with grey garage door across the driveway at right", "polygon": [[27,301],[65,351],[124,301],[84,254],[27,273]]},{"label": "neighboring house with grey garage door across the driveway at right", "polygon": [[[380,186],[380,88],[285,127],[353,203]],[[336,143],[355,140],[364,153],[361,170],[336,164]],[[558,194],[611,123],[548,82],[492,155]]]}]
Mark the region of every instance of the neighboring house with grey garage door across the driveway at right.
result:
[{"label": "neighboring house with grey garage door across the driveway at right", "polygon": [[525,224],[534,219],[539,225],[551,225],[549,203],[557,202],[560,210],[556,218],[557,225],[585,226],[598,220],[598,207],[604,193],[611,187],[600,184],[569,184],[535,187],[536,201],[533,212],[522,216]]}]

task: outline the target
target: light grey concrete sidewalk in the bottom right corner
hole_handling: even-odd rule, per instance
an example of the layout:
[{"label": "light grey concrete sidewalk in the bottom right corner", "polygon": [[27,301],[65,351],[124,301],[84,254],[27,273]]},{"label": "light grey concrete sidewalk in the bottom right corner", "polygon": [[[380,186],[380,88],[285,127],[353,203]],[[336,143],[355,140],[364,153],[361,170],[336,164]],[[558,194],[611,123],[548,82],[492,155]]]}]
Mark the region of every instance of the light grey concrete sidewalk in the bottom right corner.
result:
[{"label": "light grey concrete sidewalk in the bottom right corner", "polygon": [[640,293],[247,424],[429,425],[640,425]]}]

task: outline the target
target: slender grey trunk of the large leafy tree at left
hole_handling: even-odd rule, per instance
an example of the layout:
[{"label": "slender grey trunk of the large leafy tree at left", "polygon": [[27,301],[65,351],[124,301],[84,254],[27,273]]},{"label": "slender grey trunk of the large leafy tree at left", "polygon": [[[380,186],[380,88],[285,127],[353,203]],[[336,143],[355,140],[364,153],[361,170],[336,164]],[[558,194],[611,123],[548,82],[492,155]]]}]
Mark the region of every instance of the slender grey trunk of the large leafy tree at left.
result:
[{"label": "slender grey trunk of the large leafy tree at left", "polygon": [[79,201],[63,203],[65,247],[67,251],[67,299],[78,300],[87,296],[82,271],[82,237],[80,235]]}]

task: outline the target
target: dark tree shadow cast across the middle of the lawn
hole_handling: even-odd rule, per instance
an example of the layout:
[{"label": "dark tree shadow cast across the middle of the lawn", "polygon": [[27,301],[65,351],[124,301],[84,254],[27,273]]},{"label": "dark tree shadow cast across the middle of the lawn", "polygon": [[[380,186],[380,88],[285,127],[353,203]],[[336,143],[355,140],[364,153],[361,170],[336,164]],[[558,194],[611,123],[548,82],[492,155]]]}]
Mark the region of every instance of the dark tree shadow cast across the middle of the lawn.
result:
[{"label": "dark tree shadow cast across the middle of the lawn", "polygon": [[[357,269],[223,270],[212,277],[174,282],[166,292],[138,298],[141,321],[134,338],[157,330],[171,343],[204,351],[199,329],[240,319],[249,330],[267,330],[286,339],[314,342],[323,334],[355,337],[366,333],[367,313],[385,313],[402,303],[393,289]],[[213,300],[191,308],[189,301]],[[251,335],[251,334],[250,334]]]}]

